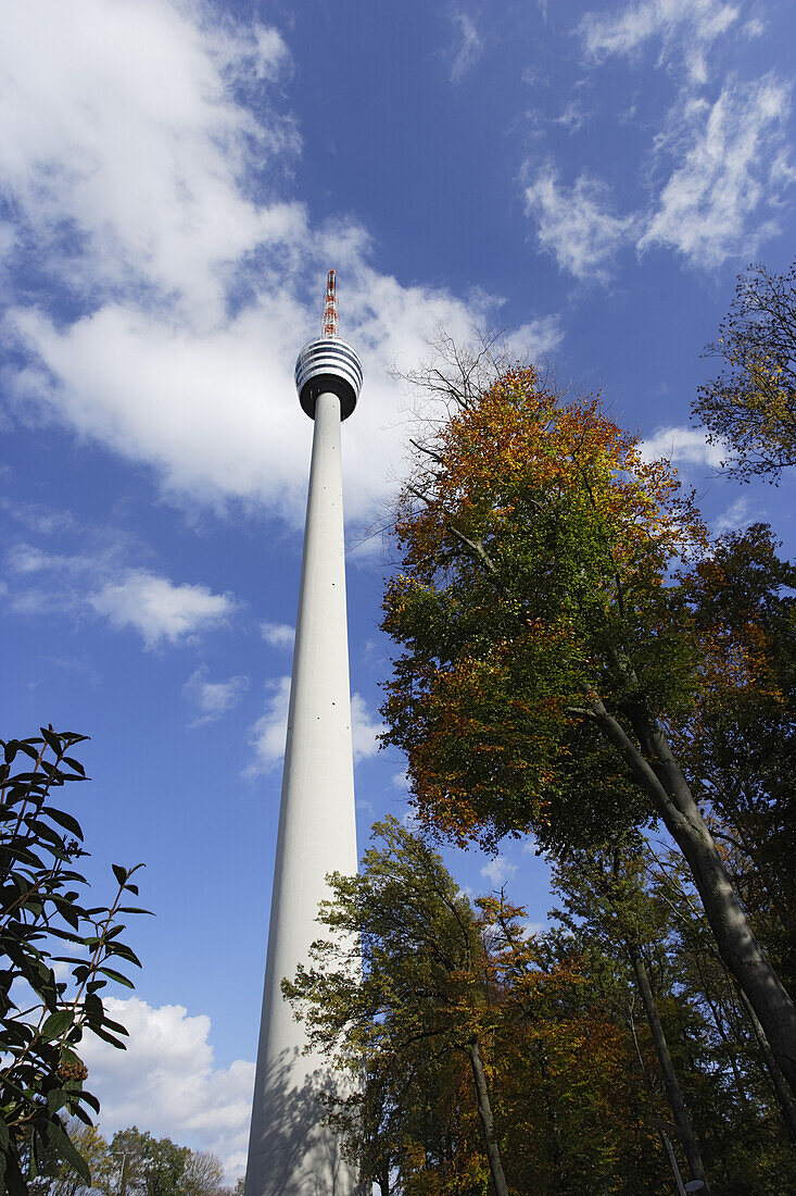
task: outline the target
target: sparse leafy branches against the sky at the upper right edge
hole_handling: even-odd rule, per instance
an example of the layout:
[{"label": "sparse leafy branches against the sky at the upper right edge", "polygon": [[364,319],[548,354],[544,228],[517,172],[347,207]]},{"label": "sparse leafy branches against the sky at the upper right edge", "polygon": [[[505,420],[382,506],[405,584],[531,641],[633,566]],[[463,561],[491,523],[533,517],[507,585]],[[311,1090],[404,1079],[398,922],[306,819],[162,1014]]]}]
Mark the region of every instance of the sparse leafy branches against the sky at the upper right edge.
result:
[{"label": "sparse leafy branches against the sky at the upper right edge", "polygon": [[796,262],[783,274],[751,266],[708,346],[724,362],[699,388],[693,420],[725,445],[729,476],[774,482],[796,464]]}]

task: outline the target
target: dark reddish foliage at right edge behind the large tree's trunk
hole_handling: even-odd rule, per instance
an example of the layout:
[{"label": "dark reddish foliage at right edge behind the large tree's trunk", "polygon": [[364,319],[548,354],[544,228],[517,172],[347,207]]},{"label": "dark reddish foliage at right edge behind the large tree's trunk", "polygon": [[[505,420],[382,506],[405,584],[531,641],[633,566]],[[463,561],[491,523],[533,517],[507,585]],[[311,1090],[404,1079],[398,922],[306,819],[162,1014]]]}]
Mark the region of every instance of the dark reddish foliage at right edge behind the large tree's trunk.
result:
[{"label": "dark reddish foliage at right edge behind the large tree's trunk", "polygon": [[734,884],[786,987],[796,989],[796,567],[771,530],[722,537],[685,579],[705,690],[676,733],[715,816]]}]

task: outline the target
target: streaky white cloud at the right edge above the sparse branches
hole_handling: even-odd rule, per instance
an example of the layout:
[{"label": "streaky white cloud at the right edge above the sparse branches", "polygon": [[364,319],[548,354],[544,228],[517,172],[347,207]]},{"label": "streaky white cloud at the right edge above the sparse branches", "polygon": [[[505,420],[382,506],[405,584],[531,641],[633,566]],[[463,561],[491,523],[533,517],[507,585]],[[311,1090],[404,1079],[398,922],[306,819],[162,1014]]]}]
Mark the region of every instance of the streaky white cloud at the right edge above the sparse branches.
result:
[{"label": "streaky white cloud at the right edge above the sparse branches", "polygon": [[684,141],[690,147],[638,249],[671,245],[705,267],[754,254],[777,231],[763,212],[796,181],[786,153],[789,112],[789,89],[772,75],[748,86],[728,84],[712,105],[688,103],[674,140],[678,150]]}]

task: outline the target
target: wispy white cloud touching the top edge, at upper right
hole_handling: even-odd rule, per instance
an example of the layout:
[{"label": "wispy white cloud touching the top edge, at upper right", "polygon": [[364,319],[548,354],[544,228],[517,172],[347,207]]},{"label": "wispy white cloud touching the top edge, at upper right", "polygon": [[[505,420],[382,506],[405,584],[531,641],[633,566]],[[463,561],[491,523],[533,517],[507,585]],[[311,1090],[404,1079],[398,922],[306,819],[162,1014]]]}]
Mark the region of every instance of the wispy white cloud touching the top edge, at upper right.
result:
[{"label": "wispy white cloud touching the top edge, at upper right", "polygon": [[661,42],[661,61],[682,57],[691,79],[706,78],[706,55],[739,18],[741,6],[723,0],[633,0],[617,11],[586,13],[578,31],[589,57],[636,55],[647,42]]}]

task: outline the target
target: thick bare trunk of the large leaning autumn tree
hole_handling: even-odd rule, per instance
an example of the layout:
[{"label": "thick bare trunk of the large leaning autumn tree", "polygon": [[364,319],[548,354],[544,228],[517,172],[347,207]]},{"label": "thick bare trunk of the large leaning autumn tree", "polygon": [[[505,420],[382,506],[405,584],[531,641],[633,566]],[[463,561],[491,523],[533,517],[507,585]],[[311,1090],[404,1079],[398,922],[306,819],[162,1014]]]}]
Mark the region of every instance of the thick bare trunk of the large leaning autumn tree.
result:
[{"label": "thick bare trunk of the large leaning autumn tree", "polygon": [[590,716],[627,762],[682,852],[718,953],[749,999],[777,1066],[796,1093],[796,1007],[752,933],[716,843],[657,720],[638,703],[633,730],[641,750],[596,695]]}]

